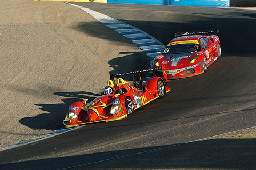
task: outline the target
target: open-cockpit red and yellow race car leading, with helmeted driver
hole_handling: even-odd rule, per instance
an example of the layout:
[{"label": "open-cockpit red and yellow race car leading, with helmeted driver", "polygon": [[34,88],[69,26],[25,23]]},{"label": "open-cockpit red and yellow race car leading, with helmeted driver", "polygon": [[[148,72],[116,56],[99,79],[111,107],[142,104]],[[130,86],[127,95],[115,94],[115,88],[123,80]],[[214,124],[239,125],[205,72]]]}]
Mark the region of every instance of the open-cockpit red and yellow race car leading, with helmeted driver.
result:
[{"label": "open-cockpit red and yellow race car leading, with helmeted driver", "polygon": [[[131,114],[133,110],[158,97],[162,98],[166,92],[170,91],[170,88],[165,86],[162,78],[150,78],[146,84],[141,80],[141,73],[156,70],[162,70],[167,82],[164,66],[110,75],[105,91],[99,97],[90,103],[86,103],[88,99],[84,99],[71,104],[65,120],[63,120],[64,125],[66,125],[66,128],[70,128],[92,122],[121,120]],[[135,74],[137,73],[140,74],[139,82],[135,81]],[[115,83],[115,77],[128,74],[133,74],[133,86],[122,78],[117,80],[117,84]]]}]

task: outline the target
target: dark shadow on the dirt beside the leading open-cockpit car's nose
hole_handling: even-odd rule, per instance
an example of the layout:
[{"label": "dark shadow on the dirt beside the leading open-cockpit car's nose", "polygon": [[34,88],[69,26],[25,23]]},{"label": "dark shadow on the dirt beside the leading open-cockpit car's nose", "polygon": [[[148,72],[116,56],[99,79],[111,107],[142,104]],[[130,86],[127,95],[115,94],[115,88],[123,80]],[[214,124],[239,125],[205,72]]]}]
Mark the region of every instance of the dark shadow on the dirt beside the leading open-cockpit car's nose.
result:
[{"label": "dark shadow on the dirt beside the leading open-cockpit car's nose", "polygon": [[[46,129],[46,130],[56,130],[63,128],[62,123],[65,115],[67,114],[68,107],[76,102],[82,101],[83,99],[89,99],[92,101],[99,94],[94,94],[92,92],[77,91],[77,92],[55,92],[53,95],[66,97],[61,101],[63,103],[58,104],[34,104],[39,106],[42,111],[48,113],[39,114],[34,117],[24,117],[19,120],[23,125],[28,126],[31,129]],[[50,121],[50,122],[49,122]]]}]

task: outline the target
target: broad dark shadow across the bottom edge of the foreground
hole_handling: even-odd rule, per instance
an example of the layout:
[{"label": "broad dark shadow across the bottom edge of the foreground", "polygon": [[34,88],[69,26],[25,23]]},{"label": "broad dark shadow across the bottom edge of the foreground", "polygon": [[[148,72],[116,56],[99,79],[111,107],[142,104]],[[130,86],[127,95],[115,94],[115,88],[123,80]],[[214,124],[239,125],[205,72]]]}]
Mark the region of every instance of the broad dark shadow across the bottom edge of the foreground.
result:
[{"label": "broad dark shadow across the bottom edge of the foreground", "polygon": [[[253,138],[215,138],[39,160],[26,160],[26,156],[22,156],[26,161],[5,163],[4,160],[0,167],[1,169],[21,167],[23,169],[255,169],[255,143],[256,139]],[[41,150],[42,148],[38,148],[38,155]],[[59,151],[61,151],[59,148],[55,148],[55,152]],[[69,160],[68,164],[67,160]]]}]

